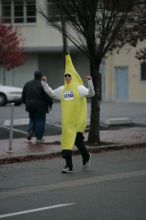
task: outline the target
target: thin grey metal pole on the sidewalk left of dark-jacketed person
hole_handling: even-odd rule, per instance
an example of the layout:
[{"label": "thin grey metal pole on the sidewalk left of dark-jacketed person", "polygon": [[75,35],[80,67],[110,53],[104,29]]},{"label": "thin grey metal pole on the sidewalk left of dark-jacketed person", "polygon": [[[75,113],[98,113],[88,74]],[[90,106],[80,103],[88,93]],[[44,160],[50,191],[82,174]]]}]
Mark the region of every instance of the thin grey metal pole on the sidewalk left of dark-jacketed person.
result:
[{"label": "thin grey metal pole on the sidewalk left of dark-jacketed person", "polygon": [[13,146],[13,126],[14,126],[14,103],[11,103],[9,153],[12,152],[12,146]]}]

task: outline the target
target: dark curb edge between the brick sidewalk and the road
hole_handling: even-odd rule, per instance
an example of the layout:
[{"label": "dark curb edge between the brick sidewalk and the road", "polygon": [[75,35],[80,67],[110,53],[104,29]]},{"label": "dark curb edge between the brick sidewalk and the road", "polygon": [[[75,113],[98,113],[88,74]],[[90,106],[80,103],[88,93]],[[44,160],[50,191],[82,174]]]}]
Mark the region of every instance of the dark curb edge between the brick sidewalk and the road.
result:
[{"label": "dark curb edge between the brick sidewalk and the road", "polygon": [[[106,146],[87,146],[91,153],[102,153],[106,151],[124,150],[124,149],[141,149],[146,148],[146,142],[134,143],[134,144],[113,144]],[[78,155],[79,151],[74,150],[74,155]],[[32,153],[26,155],[10,155],[8,157],[0,158],[0,165],[18,163],[32,160],[42,160],[42,159],[53,159],[56,157],[61,157],[61,151],[51,152],[51,153]]]}]

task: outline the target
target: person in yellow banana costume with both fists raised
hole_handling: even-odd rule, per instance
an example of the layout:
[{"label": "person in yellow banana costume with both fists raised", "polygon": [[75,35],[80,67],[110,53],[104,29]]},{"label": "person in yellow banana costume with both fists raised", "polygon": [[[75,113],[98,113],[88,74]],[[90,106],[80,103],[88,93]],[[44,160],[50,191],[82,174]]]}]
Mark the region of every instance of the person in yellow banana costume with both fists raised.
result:
[{"label": "person in yellow banana costume with both fists raised", "polygon": [[94,96],[92,77],[86,76],[88,88],[83,85],[83,81],[76,72],[69,54],[65,57],[64,85],[53,90],[47,84],[47,78],[42,77],[44,91],[54,99],[61,100],[62,110],[62,156],[66,165],[62,173],[72,173],[72,150],[77,146],[81,155],[83,167],[88,167],[91,154],[84,144],[83,133],[87,122],[87,102],[86,97]]}]

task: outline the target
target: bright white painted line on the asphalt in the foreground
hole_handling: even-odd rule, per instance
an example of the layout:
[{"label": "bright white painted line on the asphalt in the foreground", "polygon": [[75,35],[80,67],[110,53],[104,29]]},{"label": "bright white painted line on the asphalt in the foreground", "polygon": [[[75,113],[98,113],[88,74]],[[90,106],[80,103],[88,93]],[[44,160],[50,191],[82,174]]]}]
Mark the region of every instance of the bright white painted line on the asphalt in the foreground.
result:
[{"label": "bright white painted line on the asphalt in the foreground", "polygon": [[20,211],[20,212],[8,213],[8,214],[0,215],[0,219],[8,218],[8,217],[16,216],[16,215],[24,215],[24,214],[33,213],[33,212],[40,212],[40,211],[44,211],[44,210],[48,210],[48,209],[61,208],[64,206],[70,206],[70,205],[75,205],[75,204],[76,203],[64,203],[64,204],[57,204],[57,205],[41,207],[41,208],[37,208],[37,209],[29,209],[29,210]]}]

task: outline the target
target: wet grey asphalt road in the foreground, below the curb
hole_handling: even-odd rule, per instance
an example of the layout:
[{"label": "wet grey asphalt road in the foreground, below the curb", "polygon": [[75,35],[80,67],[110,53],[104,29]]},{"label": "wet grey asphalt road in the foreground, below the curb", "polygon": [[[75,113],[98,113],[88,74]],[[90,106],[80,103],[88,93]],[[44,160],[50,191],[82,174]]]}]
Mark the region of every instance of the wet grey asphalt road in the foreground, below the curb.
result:
[{"label": "wet grey asphalt road in the foreground, below the curb", "polygon": [[61,158],[1,166],[0,219],[146,219],[146,149],[93,154],[88,170],[73,162],[70,175]]}]

